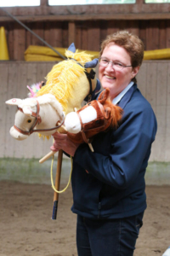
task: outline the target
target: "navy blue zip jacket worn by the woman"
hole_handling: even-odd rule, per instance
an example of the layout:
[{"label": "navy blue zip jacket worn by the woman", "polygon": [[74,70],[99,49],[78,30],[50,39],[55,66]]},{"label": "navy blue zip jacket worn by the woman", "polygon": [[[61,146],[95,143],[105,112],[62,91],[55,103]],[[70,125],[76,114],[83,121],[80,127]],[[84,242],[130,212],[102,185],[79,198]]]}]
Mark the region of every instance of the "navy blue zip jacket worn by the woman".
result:
[{"label": "navy blue zip jacket worn by the woman", "polygon": [[136,84],[118,105],[124,111],[118,129],[96,135],[94,153],[82,143],[73,158],[71,210],[83,217],[125,218],[146,208],[144,173],[156,117]]}]

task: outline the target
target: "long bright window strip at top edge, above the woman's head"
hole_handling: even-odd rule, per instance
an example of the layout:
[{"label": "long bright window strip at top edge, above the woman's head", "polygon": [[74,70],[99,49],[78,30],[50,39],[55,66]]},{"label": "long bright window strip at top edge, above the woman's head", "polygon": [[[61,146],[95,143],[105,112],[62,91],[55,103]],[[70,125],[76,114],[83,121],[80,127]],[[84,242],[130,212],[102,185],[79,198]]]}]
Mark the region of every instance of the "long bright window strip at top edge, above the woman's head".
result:
[{"label": "long bright window strip at top edge, above the woman's head", "polygon": [[49,5],[136,3],[136,0],[48,0]]}]

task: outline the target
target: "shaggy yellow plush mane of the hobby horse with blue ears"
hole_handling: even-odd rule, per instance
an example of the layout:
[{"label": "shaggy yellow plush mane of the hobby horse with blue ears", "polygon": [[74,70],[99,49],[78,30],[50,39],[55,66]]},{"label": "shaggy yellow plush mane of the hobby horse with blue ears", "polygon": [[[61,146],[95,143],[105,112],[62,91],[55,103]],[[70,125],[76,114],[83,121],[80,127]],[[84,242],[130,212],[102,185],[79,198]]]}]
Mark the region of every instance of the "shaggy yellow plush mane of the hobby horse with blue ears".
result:
[{"label": "shaggy yellow plush mane of the hobby horse with blue ears", "polygon": [[[84,73],[84,64],[92,60],[92,55],[85,52],[72,53],[65,51],[67,58],[74,60],[60,61],[47,75],[47,82],[37,91],[36,96],[52,94],[62,105],[65,113],[73,111],[73,108],[80,108],[80,104],[85,96],[88,95],[89,83]],[[82,65],[78,65],[77,61]],[[90,72],[90,68],[86,71]],[[93,81],[96,84],[96,80]],[[95,85],[94,85],[95,86]],[[81,100],[82,99],[82,100]]]}]

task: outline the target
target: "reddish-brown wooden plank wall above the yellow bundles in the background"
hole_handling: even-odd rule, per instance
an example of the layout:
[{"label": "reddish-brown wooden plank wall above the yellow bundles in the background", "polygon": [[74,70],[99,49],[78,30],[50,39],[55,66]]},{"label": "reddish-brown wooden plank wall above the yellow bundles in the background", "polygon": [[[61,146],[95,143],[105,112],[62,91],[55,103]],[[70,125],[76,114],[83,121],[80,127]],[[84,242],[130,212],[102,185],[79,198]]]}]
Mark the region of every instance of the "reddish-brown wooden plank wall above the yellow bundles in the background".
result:
[{"label": "reddish-brown wooden plank wall above the yellow bundles in the background", "polygon": [[[69,24],[74,27],[74,35]],[[16,22],[3,22],[3,26],[10,60],[23,61],[29,45],[44,45]],[[67,48],[69,42],[74,41],[78,49],[99,51],[108,34],[127,30],[142,39],[145,50],[170,48],[169,20],[36,21],[26,23],[26,26],[54,47]]]}]

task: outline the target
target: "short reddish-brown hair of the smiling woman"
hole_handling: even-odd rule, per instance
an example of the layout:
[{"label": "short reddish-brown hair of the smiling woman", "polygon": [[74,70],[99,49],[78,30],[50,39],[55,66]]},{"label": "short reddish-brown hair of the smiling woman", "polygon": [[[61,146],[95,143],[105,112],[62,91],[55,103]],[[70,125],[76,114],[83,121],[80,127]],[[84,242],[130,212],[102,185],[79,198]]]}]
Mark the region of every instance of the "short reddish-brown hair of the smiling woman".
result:
[{"label": "short reddish-brown hair of the smiling woman", "polygon": [[[130,55],[132,67],[140,67],[142,65],[144,44],[139,37],[127,31],[119,31],[108,35],[101,44],[99,56],[103,54],[105,47],[112,43],[126,49],[127,53]],[[136,83],[136,78],[133,78],[132,81]]]}]

